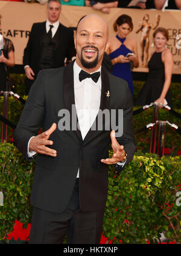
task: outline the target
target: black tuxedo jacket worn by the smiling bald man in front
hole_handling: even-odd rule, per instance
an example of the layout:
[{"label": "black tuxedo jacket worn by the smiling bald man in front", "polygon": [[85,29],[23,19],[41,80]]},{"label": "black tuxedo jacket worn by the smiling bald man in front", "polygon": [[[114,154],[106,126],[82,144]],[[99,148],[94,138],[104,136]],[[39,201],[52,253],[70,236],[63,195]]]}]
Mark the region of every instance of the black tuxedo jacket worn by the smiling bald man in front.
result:
[{"label": "black tuxedo jacket worn by the smiling bald man in front", "polygon": [[[103,66],[101,78],[100,109],[123,109],[124,132],[117,140],[124,145],[127,162],[130,162],[135,153],[132,95],[127,82],[109,74]],[[110,92],[110,97],[106,96],[107,91]],[[30,137],[37,135],[41,126],[45,131],[52,123],[57,124],[57,129],[49,138],[54,142],[50,147],[57,150],[57,157],[40,154],[36,156],[31,193],[32,205],[54,213],[65,210],[78,168],[81,210],[103,210],[107,199],[109,166],[100,160],[108,157],[111,129],[90,129],[84,140],[79,130],[60,131],[58,112],[68,109],[71,113],[72,104],[75,104],[73,63],[65,68],[42,70],[31,87],[21,119],[14,130],[14,143],[27,158]]]}]

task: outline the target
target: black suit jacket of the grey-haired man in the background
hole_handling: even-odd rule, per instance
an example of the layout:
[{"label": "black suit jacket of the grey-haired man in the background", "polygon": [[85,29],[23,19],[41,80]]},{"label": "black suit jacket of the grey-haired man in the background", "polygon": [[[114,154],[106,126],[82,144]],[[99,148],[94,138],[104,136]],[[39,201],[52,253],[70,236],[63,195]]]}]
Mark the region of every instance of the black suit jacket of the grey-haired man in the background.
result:
[{"label": "black suit jacket of the grey-haired man in the background", "polygon": [[[35,75],[39,72],[42,36],[45,32],[46,22],[34,23],[31,28],[27,47],[24,50],[23,64],[24,66],[29,65]],[[54,66],[52,68],[59,68],[64,66],[65,57],[71,60],[75,56],[74,33],[70,28],[59,24],[54,37],[57,37],[57,40],[59,40],[59,47],[57,47],[54,54]]]}]

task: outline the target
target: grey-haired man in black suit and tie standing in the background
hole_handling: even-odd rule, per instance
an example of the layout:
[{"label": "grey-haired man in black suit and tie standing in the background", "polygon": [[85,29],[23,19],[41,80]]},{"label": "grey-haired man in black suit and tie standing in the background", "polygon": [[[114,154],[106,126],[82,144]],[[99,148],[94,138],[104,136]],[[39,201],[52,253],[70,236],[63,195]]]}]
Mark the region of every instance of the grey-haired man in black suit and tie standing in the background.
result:
[{"label": "grey-haired man in black suit and tie standing in the background", "polygon": [[23,57],[26,94],[41,69],[60,68],[65,58],[69,61],[75,56],[74,33],[60,24],[60,12],[60,0],[48,0],[47,21],[34,23],[31,28]]}]

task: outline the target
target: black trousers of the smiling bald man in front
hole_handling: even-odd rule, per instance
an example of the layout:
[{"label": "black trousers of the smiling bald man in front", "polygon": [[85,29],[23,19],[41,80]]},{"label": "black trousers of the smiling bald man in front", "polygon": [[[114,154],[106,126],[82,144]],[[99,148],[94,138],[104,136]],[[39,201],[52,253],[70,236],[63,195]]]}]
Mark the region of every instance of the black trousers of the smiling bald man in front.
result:
[{"label": "black trousers of the smiling bald man in front", "polygon": [[[88,203],[88,202],[87,202]],[[78,179],[68,206],[63,213],[33,208],[29,244],[60,244],[67,235],[67,243],[100,243],[103,211],[83,213],[78,198]]]}]

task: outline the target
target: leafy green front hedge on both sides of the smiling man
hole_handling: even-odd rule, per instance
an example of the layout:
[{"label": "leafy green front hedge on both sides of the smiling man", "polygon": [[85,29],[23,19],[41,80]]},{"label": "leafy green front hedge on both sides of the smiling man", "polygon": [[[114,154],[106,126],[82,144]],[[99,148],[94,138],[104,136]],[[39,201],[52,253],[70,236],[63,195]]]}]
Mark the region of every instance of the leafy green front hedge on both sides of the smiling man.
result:
[{"label": "leafy green front hedge on both sides of the smiling man", "polygon": [[[110,166],[104,235],[113,243],[146,243],[167,231],[171,241],[181,242],[181,206],[176,205],[180,168],[178,156],[156,155],[135,156],[120,176]],[[30,223],[33,170],[34,161],[26,162],[13,144],[0,144],[0,240],[12,231],[14,220],[25,227]]]}]

